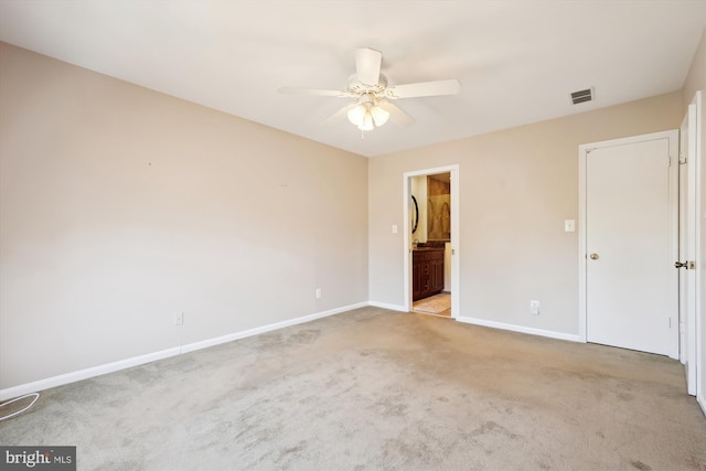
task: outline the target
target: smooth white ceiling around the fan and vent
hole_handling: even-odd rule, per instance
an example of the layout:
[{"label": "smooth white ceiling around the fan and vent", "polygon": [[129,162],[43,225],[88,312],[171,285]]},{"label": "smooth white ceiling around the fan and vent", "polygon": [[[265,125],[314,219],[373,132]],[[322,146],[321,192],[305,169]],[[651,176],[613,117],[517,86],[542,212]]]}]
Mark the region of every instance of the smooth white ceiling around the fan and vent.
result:
[{"label": "smooth white ceiling around the fan and vent", "polygon": [[[678,90],[705,26],[706,0],[0,0],[0,41],[367,157]],[[356,47],[461,93],[364,140],[321,125],[345,98],[277,93],[345,88]]]}]

